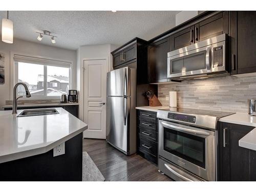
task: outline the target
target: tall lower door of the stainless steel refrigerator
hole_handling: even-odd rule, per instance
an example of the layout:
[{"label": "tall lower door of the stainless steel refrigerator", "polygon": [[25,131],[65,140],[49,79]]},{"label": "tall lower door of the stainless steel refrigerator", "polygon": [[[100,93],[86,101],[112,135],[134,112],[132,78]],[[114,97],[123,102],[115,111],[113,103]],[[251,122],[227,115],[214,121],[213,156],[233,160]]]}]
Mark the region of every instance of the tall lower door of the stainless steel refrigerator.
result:
[{"label": "tall lower door of the stainless steel refrigerator", "polygon": [[129,97],[106,98],[106,140],[124,153],[129,152]]}]

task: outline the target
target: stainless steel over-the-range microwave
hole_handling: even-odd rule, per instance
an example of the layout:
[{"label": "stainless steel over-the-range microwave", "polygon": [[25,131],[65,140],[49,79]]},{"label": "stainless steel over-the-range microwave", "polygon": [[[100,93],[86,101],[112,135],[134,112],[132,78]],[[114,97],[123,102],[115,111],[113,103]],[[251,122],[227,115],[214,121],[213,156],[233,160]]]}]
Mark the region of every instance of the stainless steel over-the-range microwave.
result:
[{"label": "stainless steel over-the-range microwave", "polygon": [[229,74],[227,35],[222,34],[167,54],[170,79],[201,79]]}]

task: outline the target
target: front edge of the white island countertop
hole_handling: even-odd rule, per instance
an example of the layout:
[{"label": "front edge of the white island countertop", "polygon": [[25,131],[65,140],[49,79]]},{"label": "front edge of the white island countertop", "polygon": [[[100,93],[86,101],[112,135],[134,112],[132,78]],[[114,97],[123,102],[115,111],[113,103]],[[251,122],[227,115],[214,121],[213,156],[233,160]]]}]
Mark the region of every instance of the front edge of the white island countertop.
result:
[{"label": "front edge of the white island countertop", "polygon": [[23,152],[17,152],[17,153],[13,153],[13,154],[8,154],[8,155],[4,155],[0,157],[0,163],[5,163],[8,161],[13,161],[13,160],[17,160],[17,159],[22,159],[22,158],[26,158],[26,157],[31,157],[31,156],[35,156],[35,155],[39,155],[39,154],[44,154],[46,152],[49,152],[50,150],[52,150],[55,146],[68,141],[69,139],[75,137],[76,135],[82,133],[83,131],[86,131],[88,129],[88,125],[83,126],[82,128],[80,128],[79,130],[71,133],[70,135],[63,137],[55,142],[50,143],[47,146],[44,147],[39,147],[39,148],[34,148],[32,150],[26,150]]}]

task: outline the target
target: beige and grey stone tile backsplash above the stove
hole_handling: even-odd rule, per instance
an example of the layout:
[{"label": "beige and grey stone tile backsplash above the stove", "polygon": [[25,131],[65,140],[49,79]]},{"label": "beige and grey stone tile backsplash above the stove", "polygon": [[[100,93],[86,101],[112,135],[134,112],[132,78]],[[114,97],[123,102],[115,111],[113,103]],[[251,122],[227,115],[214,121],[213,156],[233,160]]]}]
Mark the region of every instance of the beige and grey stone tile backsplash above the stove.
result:
[{"label": "beige and grey stone tile backsplash above the stove", "polygon": [[256,76],[221,77],[159,84],[158,99],[169,105],[169,91],[177,91],[177,105],[216,111],[248,112],[248,99],[256,98]]}]

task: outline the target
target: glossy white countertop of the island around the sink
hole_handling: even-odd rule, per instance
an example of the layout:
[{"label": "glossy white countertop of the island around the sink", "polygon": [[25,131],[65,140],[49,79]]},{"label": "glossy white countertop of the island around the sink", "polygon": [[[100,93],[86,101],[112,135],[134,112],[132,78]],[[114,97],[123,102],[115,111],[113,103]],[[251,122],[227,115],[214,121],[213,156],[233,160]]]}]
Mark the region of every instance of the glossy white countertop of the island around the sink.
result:
[{"label": "glossy white countertop of the island around the sink", "polygon": [[62,108],[59,114],[16,117],[24,110],[0,111],[0,163],[46,153],[87,129]]}]

